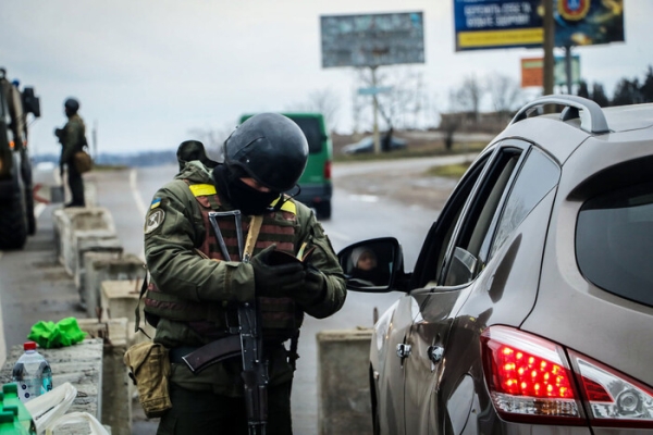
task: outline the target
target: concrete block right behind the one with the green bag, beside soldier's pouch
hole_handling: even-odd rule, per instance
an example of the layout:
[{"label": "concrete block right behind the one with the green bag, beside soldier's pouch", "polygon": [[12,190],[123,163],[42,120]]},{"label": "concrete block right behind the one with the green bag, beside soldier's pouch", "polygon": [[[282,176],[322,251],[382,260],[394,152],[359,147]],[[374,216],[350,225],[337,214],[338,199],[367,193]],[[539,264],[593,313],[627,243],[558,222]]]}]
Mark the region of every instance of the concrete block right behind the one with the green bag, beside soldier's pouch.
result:
[{"label": "concrete block right behind the one with the green bag, beside soldier's pouch", "polygon": [[102,352],[102,423],[111,426],[114,435],[132,434],[133,383],[123,361],[127,343],[127,319],[82,319],[82,331],[104,343]]}]

